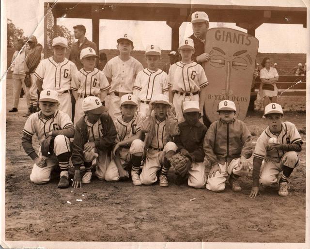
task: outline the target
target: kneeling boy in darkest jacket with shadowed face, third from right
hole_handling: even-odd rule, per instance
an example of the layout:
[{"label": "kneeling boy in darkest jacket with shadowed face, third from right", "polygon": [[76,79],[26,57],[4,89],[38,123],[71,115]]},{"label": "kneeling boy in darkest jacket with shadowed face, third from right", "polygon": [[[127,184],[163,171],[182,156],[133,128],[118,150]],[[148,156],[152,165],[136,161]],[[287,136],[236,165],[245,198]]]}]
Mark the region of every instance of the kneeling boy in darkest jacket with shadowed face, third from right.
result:
[{"label": "kneeling boy in darkest jacket with shadowed face, third from right", "polygon": [[[191,166],[187,171],[187,184],[190,187],[202,188],[207,183],[204,174],[204,151],[203,140],[207,132],[207,127],[199,122],[199,102],[184,101],[183,116],[185,121],[179,124],[180,135],[175,136],[174,142],[178,146],[178,151],[189,157]],[[177,176],[176,184],[180,185],[183,180]]]}]

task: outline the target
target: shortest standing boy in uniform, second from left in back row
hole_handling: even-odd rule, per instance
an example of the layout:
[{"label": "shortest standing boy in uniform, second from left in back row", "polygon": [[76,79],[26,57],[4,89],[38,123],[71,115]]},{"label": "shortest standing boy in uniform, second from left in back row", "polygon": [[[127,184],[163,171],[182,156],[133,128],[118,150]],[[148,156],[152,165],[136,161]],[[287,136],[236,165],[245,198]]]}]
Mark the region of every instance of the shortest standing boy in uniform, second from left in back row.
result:
[{"label": "shortest standing boy in uniform, second from left in back row", "polygon": [[96,51],[91,47],[86,47],[81,50],[80,60],[83,68],[78,70],[71,81],[70,90],[76,99],[74,124],[84,115],[82,110],[83,99],[88,96],[97,96],[103,102],[109,89],[110,84],[107,77],[102,71],[94,68],[96,64]]}]

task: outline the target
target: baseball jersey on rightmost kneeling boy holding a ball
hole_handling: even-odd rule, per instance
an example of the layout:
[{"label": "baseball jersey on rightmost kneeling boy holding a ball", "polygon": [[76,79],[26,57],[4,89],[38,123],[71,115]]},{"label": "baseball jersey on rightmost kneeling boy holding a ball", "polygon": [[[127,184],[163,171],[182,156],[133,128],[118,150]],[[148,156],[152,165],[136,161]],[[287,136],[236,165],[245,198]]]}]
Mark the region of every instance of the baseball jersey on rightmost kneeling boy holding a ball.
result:
[{"label": "baseball jersey on rightmost kneeling boy holding a ball", "polygon": [[284,155],[285,151],[269,147],[269,138],[276,138],[280,144],[302,142],[295,124],[292,124],[291,122],[283,122],[282,130],[278,135],[271,133],[268,126],[256,142],[254,150],[255,157],[261,159],[264,159],[264,157],[280,159]]}]

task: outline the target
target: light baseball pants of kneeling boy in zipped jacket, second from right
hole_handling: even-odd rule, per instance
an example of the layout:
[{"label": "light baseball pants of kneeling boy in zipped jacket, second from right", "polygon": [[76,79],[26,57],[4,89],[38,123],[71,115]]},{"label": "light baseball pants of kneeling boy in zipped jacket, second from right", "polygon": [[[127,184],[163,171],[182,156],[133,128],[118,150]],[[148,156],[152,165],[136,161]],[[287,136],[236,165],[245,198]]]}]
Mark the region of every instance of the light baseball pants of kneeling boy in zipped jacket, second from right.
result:
[{"label": "light baseball pants of kneeling boy in zipped jacket, second from right", "polygon": [[229,165],[227,162],[224,164],[219,163],[218,165],[221,169],[221,173],[217,171],[215,173],[215,176],[208,176],[206,188],[214,192],[220,192],[225,189],[226,177],[232,174],[235,174],[237,176],[247,175],[249,173],[249,170],[242,170],[239,162],[240,158],[235,158],[231,161]]}]

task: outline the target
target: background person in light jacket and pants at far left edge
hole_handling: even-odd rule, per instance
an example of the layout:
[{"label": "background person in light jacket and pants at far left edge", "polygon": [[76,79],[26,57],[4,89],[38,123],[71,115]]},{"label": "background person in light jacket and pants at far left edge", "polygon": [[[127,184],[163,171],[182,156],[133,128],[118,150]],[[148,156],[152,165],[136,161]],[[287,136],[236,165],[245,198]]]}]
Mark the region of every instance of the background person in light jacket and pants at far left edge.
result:
[{"label": "background person in light jacket and pants at far left edge", "polygon": [[[9,110],[9,112],[18,111],[18,103],[21,89],[24,89],[26,94],[26,102],[28,107],[28,113],[24,114],[23,117],[29,116],[30,113],[30,93],[29,88],[25,85],[25,58],[29,52],[28,49],[23,48],[24,41],[22,39],[18,39],[16,42],[16,51],[13,54],[12,62],[11,62],[11,71],[13,78],[13,108]],[[19,53],[20,51],[20,53]],[[19,53],[19,54],[18,54]]]}]

